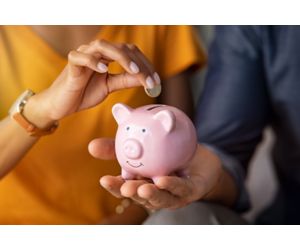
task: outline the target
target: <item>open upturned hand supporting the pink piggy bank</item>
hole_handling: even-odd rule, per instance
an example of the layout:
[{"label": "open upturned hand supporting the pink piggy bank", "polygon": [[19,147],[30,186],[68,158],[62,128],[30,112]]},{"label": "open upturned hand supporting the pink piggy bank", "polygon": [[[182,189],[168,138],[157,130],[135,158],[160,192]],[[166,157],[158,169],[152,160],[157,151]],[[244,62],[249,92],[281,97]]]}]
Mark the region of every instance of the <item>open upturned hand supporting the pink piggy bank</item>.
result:
[{"label": "open upturned hand supporting the pink piggy bank", "polygon": [[[96,158],[115,158],[114,141],[95,139],[89,152]],[[149,209],[183,207],[200,199],[232,205],[236,198],[235,184],[221,166],[219,158],[199,145],[187,166],[188,177],[162,176],[155,183],[127,180],[121,176],[103,176],[100,184],[116,197],[131,198]]]}]

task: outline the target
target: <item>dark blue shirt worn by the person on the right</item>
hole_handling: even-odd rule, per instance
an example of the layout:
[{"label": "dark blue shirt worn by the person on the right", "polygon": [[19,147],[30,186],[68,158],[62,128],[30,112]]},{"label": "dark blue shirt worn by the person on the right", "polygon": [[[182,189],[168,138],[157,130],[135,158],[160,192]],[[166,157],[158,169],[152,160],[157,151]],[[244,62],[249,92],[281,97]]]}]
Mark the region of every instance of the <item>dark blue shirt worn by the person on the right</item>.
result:
[{"label": "dark blue shirt worn by the person on the right", "polygon": [[300,27],[221,26],[209,52],[198,103],[198,140],[211,147],[249,207],[245,173],[266,126],[276,135],[272,159],[280,190],[259,223],[300,223]]}]

